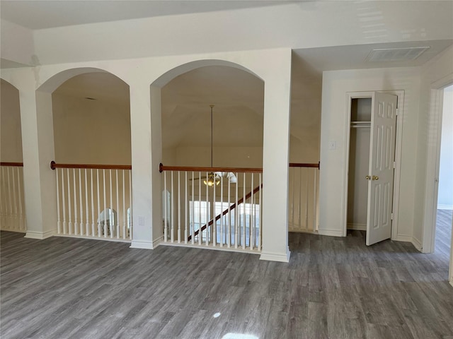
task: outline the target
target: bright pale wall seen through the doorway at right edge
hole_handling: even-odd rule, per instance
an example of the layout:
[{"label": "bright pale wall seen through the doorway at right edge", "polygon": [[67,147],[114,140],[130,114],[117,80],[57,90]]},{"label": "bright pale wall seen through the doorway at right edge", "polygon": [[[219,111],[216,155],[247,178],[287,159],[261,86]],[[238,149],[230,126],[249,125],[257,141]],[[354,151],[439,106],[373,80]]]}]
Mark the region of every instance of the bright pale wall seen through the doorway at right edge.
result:
[{"label": "bright pale wall seen through the doorway at right edge", "polygon": [[453,85],[444,90],[437,208],[453,210]]}]

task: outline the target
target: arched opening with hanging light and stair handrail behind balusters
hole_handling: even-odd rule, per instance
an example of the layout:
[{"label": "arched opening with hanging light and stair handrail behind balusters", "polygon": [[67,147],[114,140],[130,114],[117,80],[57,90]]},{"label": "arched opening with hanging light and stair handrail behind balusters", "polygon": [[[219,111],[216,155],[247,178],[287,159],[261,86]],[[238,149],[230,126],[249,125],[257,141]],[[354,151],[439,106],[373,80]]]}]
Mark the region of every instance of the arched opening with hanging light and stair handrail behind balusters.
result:
[{"label": "arched opening with hanging light and stair handrail behind balusters", "polygon": [[[260,249],[263,111],[264,82],[229,63],[197,64],[161,88],[164,165],[195,167],[164,174],[164,241]],[[215,187],[200,167],[219,167]]]}]

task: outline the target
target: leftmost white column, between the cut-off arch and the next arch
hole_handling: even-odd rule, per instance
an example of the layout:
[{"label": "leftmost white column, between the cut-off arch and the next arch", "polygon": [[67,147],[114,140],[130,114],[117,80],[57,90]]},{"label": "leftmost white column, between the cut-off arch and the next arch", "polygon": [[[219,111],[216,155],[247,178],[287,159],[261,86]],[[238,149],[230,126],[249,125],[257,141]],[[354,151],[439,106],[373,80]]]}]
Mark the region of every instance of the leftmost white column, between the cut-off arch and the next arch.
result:
[{"label": "leftmost white column, between the cut-off arch and the next arch", "polygon": [[57,188],[54,160],[52,94],[35,92],[34,81],[19,89],[23,146],[23,180],[27,233],[45,239],[57,232]]}]

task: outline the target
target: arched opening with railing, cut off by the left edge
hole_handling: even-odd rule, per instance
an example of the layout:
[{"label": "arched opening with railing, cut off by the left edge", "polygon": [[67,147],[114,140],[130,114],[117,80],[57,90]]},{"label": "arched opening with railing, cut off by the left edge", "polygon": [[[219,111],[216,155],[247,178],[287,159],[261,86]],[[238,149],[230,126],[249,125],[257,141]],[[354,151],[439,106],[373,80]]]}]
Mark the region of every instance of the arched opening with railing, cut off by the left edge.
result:
[{"label": "arched opening with railing, cut off by the left edge", "polygon": [[19,91],[11,83],[0,81],[0,228],[25,232]]}]

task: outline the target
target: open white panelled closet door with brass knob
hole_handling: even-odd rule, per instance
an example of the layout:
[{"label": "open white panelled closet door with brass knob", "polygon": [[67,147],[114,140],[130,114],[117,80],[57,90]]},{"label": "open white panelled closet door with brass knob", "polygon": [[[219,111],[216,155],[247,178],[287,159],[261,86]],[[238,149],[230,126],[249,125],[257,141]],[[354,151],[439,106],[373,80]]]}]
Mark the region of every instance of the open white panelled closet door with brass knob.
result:
[{"label": "open white panelled closet door with brass knob", "polygon": [[369,145],[367,245],[391,236],[397,100],[396,95],[374,93]]}]

